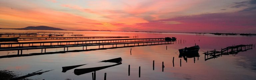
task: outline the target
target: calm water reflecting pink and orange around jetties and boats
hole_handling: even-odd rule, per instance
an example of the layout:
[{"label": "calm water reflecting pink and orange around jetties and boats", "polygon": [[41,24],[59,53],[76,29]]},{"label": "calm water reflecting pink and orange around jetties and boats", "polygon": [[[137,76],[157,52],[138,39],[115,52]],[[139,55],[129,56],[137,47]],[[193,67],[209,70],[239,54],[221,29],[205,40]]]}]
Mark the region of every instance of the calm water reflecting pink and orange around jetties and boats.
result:
[{"label": "calm water reflecting pink and orange around jetties and boats", "polygon": [[[38,70],[52,70],[29,77],[30,79],[45,80],[64,80],[66,78],[74,80],[91,80],[92,74],[86,73],[75,75],[74,69],[63,73],[63,66],[72,66],[99,62],[121,57],[123,59],[121,65],[109,67],[96,71],[96,79],[103,80],[104,73],[107,73],[107,80],[255,80],[256,79],[256,54],[255,49],[239,52],[236,55],[223,55],[215,59],[204,60],[204,52],[213,49],[220,50],[232,45],[255,44],[256,37],[246,36],[218,36],[205,34],[204,36],[196,36],[196,34],[185,33],[161,33],[152,34],[144,32],[110,32],[110,31],[37,31],[37,30],[0,30],[0,32],[74,32],[74,34],[85,34],[85,36],[134,36],[139,38],[164,38],[176,37],[177,41],[173,44],[137,46],[106,50],[94,50],[84,52],[68,52],[62,54],[48,54],[27,57],[1,58],[0,69],[8,69],[17,71],[21,75],[26,75]],[[65,35],[67,36],[67,35]],[[109,38],[110,39],[110,38]],[[113,38],[112,38],[113,39]],[[90,39],[80,39],[90,40]],[[184,40],[184,42],[183,42]],[[31,40],[38,41],[38,40]],[[28,41],[28,42],[31,42]],[[46,41],[46,40],[40,40]],[[47,40],[54,41],[54,40]],[[19,41],[26,42],[26,41]],[[199,60],[194,63],[194,58],[188,58],[186,62],[183,58],[178,58],[178,49],[199,45]],[[166,50],[167,46],[167,50]],[[97,47],[97,46],[96,46]],[[105,47],[105,46],[104,46]],[[93,47],[90,47],[93,48]],[[130,49],[132,48],[132,55]],[[254,48],[254,47],[253,47]],[[69,50],[81,49],[81,47],[69,48]],[[49,49],[49,52],[60,51],[62,49]],[[24,50],[24,54],[38,53],[40,50]],[[0,51],[0,55],[15,54],[15,51]],[[175,67],[173,67],[172,59],[174,58]],[[180,59],[182,66],[180,67]],[[155,60],[155,70],[152,64]],[[162,62],[165,68],[162,72]],[[109,65],[113,63],[94,63],[84,65],[75,69],[89,68],[94,66]],[[128,76],[128,65],[131,66],[130,76]],[[141,66],[141,77],[139,78],[139,66]]]}]

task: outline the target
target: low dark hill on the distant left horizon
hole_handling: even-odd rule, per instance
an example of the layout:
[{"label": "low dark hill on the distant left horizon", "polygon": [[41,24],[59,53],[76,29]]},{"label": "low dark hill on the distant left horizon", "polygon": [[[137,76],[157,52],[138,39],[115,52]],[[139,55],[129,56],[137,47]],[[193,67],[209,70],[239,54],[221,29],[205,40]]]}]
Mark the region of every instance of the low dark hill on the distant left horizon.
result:
[{"label": "low dark hill on the distant left horizon", "polygon": [[25,28],[19,28],[19,29],[28,29],[28,30],[65,30],[60,28],[54,28],[54,27],[48,27],[48,26],[28,26]]}]

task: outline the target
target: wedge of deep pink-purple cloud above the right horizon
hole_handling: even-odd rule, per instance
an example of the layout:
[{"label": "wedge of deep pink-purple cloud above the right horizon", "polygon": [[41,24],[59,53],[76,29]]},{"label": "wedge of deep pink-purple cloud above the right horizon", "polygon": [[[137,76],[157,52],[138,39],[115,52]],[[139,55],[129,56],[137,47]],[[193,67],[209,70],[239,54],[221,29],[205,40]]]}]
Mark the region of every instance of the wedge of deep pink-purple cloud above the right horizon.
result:
[{"label": "wedge of deep pink-purple cloud above the right horizon", "polygon": [[[254,11],[255,12],[255,11]],[[168,21],[180,22],[169,24]],[[180,16],[137,23],[139,26],[165,29],[166,32],[240,32],[255,33],[256,15],[252,12],[209,13]]]}]

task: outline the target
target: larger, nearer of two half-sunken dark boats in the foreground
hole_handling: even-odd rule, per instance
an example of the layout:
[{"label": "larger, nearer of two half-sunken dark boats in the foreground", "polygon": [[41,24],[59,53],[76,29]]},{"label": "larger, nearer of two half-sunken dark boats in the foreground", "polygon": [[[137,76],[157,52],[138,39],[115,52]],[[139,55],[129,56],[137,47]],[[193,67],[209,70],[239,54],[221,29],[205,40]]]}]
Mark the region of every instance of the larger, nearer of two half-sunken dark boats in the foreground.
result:
[{"label": "larger, nearer of two half-sunken dark boats in the foreground", "polygon": [[104,61],[101,61],[101,62],[112,62],[112,63],[117,63],[117,64],[108,65],[108,66],[101,66],[101,67],[93,67],[93,68],[75,69],[74,73],[75,73],[75,75],[81,75],[81,74],[85,74],[85,73],[105,69],[105,68],[108,68],[108,67],[120,65],[120,64],[122,64],[122,58],[120,57],[120,58],[115,58],[115,59],[110,59],[110,60],[104,60]]}]

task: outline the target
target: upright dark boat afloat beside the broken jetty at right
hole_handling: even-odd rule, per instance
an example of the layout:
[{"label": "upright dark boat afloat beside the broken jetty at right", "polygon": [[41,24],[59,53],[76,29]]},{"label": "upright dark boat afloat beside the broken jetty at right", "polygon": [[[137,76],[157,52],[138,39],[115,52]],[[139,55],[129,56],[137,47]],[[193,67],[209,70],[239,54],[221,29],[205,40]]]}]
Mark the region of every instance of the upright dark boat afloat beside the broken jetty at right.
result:
[{"label": "upright dark boat afloat beside the broken jetty at right", "polygon": [[185,47],[184,49],[179,49],[180,55],[179,57],[182,57],[183,55],[188,55],[188,54],[196,54],[198,53],[200,47],[198,45],[192,46],[192,47]]}]

